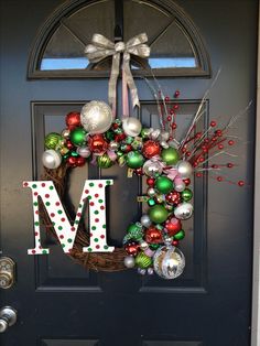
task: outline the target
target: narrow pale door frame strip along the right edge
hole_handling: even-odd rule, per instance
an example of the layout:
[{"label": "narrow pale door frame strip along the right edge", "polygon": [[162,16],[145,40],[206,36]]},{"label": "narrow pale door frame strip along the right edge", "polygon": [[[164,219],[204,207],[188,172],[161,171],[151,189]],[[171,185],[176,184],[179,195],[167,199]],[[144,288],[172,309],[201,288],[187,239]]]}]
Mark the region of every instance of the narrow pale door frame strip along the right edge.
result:
[{"label": "narrow pale door frame strip along the right edge", "polygon": [[251,346],[260,345],[260,9],[258,15],[258,76],[254,152],[254,207],[253,207],[253,277]]}]

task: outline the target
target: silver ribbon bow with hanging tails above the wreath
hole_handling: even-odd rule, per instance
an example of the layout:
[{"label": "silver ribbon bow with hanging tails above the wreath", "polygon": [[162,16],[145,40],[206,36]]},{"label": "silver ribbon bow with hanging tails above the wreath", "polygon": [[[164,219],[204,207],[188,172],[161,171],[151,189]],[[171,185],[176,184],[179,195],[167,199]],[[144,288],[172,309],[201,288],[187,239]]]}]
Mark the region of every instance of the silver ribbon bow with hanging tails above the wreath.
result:
[{"label": "silver ribbon bow with hanging tails above the wreath", "polygon": [[112,43],[110,40],[101,34],[94,34],[91,44],[88,44],[85,48],[85,53],[90,63],[98,63],[112,55],[112,67],[108,85],[108,101],[109,105],[116,105],[117,99],[117,79],[119,76],[120,67],[120,54],[123,53],[122,69],[126,75],[126,82],[130,89],[132,106],[140,106],[138,98],[137,86],[133,82],[133,77],[130,68],[130,54],[149,57],[150,47],[144,44],[148,42],[148,36],[145,33],[141,33],[137,36],[130,39],[127,43],[118,42]]}]

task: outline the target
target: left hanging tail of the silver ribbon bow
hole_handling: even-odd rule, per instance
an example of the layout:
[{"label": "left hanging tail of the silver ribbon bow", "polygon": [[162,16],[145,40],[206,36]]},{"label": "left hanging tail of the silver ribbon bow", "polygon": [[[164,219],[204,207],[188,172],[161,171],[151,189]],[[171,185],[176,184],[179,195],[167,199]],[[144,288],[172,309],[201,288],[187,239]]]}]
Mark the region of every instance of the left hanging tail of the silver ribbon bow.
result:
[{"label": "left hanging tail of the silver ribbon bow", "polygon": [[116,117],[117,109],[117,80],[119,75],[119,64],[120,64],[120,54],[115,54],[112,56],[112,67],[110,79],[108,83],[108,102],[112,108],[113,117]]}]

